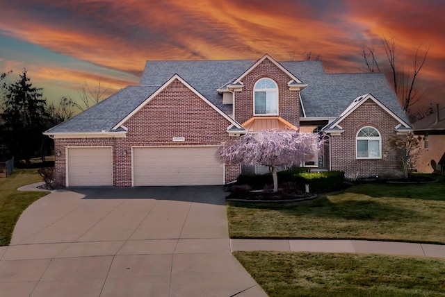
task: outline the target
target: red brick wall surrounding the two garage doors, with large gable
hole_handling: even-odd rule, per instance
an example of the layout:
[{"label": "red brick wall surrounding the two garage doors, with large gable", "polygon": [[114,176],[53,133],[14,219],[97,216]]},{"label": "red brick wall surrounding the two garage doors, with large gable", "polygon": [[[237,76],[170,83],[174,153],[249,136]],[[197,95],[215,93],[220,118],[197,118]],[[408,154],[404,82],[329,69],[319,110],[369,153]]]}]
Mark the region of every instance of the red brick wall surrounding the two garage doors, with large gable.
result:
[{"label": "red brick wall surrounding the two garage doors, with large gable", "polygon": [[[131,186],[131,146],[220,146],[231,141],[226,132],[231,123],[200,99],[179,80],[149,101],[124,126],[125,138],[54,139],[56,176],[65,185],[65,146],[113,146],[113,185]],[[185,137],[184,142],[173,142],[173,137]],[[127,155],[124,155],[127,151]],[[226,183],[235,180],[239,167],[225,167]]]}]

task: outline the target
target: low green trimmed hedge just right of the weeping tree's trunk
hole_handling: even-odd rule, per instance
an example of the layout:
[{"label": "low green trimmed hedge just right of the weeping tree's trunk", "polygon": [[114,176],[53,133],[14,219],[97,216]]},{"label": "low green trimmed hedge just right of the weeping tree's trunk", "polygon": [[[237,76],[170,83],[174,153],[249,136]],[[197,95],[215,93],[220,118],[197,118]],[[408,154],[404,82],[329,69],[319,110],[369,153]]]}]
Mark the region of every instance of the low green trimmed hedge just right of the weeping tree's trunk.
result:
[{"label": "low green trimmed hedge just right of the weeping tree's trunk", "polygon": [[302,187],[309,185],[310,192],[327,192],[343,187],[345,173],[343,171],[302,172],[294,175],[294,178]]}]

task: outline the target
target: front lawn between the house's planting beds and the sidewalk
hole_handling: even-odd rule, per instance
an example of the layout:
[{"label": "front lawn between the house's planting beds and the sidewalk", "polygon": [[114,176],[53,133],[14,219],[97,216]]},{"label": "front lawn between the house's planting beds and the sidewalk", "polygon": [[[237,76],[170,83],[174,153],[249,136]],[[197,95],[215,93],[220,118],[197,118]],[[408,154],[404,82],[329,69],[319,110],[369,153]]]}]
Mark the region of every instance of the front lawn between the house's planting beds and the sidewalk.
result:
[{"label": "front lawn between the house's planting beds and the sidewalk", "polygon": [[356,185],[303,203],[227,203],[232,238],[445,244],[444,210],[444,180],[425,185]]}]

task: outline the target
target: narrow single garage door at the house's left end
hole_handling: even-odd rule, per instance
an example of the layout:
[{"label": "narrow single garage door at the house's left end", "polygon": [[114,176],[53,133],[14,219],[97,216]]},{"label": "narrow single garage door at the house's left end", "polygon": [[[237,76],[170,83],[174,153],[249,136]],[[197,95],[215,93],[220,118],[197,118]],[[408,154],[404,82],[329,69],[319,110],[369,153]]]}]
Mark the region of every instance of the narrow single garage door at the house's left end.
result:
[{"label": "narrow single garage door at the house's left end", "polygon": [[111,147],[68,148],[67,185],[113,185]]}]

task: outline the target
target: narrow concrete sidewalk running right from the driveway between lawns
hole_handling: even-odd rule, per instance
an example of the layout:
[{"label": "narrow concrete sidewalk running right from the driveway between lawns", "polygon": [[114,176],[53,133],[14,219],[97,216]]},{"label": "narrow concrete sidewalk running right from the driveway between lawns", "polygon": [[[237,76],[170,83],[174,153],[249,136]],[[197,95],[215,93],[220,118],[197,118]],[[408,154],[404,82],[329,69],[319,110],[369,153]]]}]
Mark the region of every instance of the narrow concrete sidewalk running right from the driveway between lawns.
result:
[{"label": "narrow concrete sidewalk running right from the driveway between lawns", "polygon": [[445,245],[371,240],[230,239],[230,251],[366,253],[445,257]]}]

